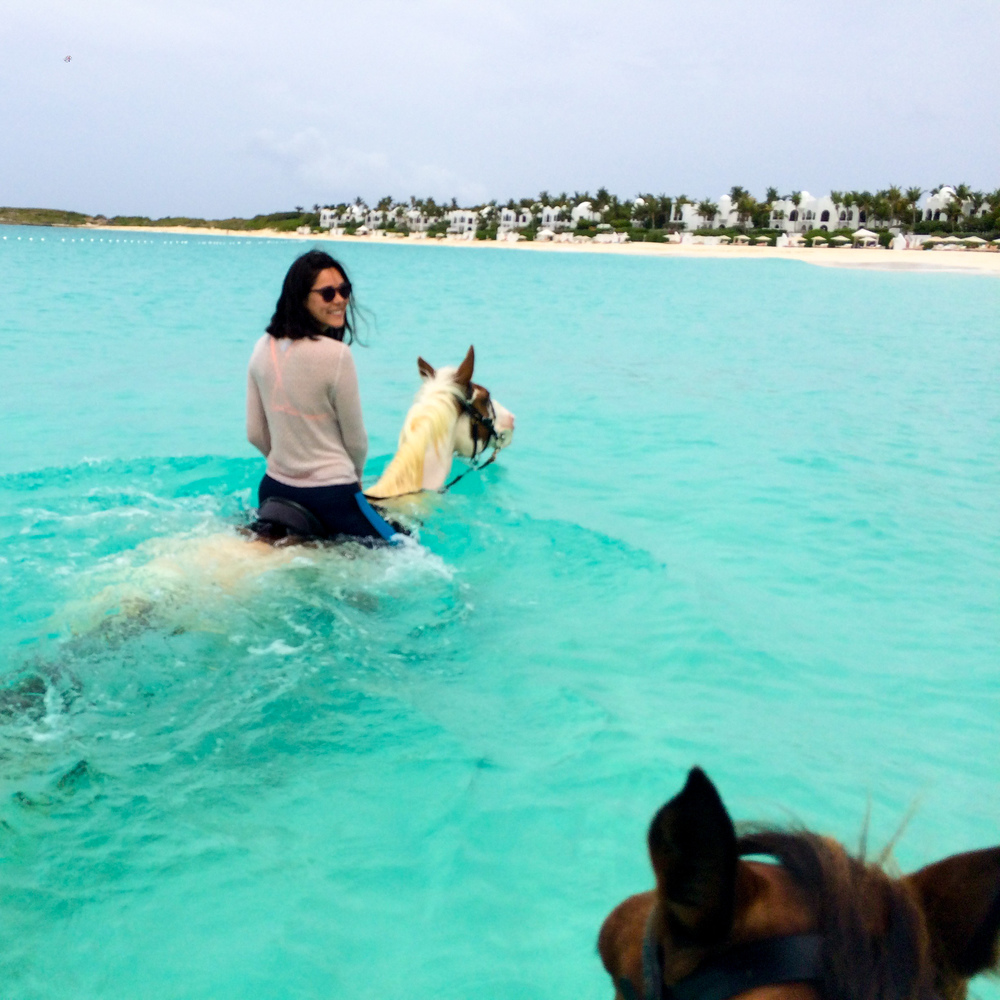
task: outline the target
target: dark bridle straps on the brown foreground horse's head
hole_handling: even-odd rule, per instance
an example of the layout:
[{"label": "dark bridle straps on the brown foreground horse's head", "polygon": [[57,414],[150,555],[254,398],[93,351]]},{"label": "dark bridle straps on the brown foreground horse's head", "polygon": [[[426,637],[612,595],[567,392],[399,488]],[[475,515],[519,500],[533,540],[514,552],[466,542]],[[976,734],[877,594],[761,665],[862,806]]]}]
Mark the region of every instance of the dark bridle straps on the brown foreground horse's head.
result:
[{"label": "dark bridle straps on the brown foreground horse's head", "polygon": [[[673,986],[663,985],[663,949],[654,907],[642,938],[641,1000],[729,1000],[760,986],[815,982],[822,976],[823,936],[789,934],[737,945]],[[628,979],[618,980],[625,1000],[640,1000]]]}]

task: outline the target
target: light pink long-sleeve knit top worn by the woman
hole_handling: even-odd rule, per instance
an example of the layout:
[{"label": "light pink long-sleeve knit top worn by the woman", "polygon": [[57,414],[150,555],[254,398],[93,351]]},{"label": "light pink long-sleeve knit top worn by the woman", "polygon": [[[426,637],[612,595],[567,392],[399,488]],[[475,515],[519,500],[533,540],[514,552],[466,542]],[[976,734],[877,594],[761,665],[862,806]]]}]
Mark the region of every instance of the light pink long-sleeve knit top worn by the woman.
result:
[{"label": "light pink long-sleeve knit top worn by the woman", "polygon": [[264,334],[247,372],[247,439],[279,483],[361,482],[368,435],[351,349],[330,337]]}]

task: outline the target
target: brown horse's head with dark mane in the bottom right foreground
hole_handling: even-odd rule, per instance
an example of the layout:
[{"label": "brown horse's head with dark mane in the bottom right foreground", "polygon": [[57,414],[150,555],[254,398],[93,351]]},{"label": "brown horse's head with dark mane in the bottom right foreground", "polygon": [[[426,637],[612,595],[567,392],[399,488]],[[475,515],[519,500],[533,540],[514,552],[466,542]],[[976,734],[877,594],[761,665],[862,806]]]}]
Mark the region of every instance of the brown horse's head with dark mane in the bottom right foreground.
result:
[{"label": "brown horse's head with dark mane in the bottom right foreground", "polygon": [[893,878],[814,833],[737,836],[695,768],[649,854],[656,889],[598,940],[619,1000],[961,1000],[1000,959],[1000,847]]}]

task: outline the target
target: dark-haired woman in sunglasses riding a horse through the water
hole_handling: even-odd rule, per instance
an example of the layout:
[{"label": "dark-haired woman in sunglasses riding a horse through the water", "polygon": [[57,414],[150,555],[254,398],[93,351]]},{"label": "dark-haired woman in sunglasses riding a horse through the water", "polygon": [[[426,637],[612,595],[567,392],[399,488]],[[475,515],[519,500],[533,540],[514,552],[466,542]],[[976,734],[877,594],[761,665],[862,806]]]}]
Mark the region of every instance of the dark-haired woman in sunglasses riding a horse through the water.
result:
[{"label": "dark-haired woman in sunglasses riding a horse through the water", "polygon": [[311,250],[288,269],[247,375],[247,438],[267,457],[261,507],[292,500],[327,536],[389,540],[395,529],[361,492],[368,435],[354,359],[351,283],[343,266]]}]

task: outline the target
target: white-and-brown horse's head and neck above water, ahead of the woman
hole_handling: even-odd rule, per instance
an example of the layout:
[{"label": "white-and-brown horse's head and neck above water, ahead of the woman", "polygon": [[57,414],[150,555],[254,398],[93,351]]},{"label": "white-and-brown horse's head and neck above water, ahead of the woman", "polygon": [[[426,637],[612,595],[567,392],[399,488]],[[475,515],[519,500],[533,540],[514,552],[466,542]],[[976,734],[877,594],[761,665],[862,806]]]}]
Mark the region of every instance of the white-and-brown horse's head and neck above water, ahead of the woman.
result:
[{"label": "white-and-brown horse's head and neck above water, ahead of the woman", "polygon": [[378,482],[365,491],[369,499],[384,503],[439,490],[455,455],[474,462],[487,448],[493,448],[495,455],[510,444],[514,414],[472,381],[475,362],[472,347],[457,368],[435,370],[417,358],[424,384],[403,421],[395,456]]}]

